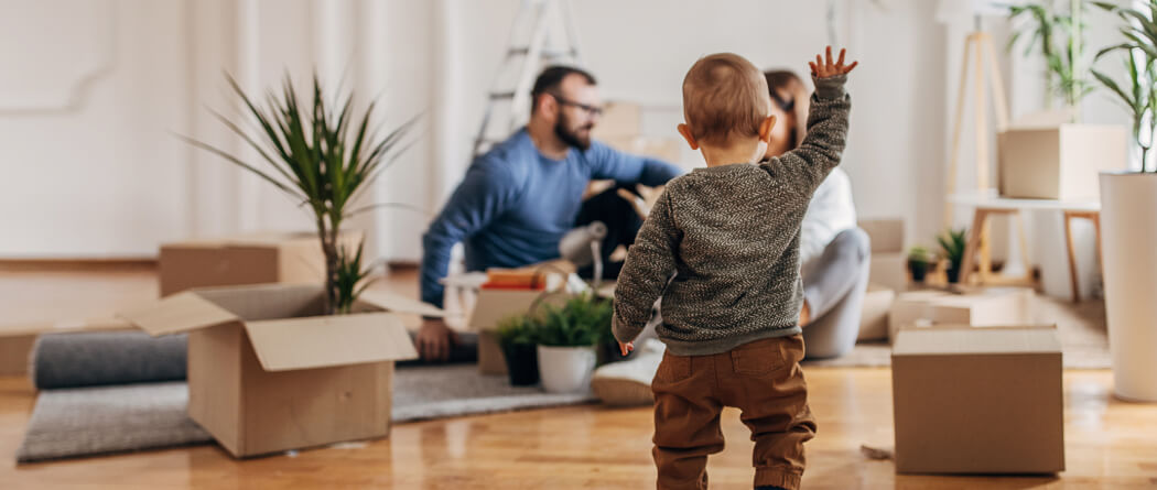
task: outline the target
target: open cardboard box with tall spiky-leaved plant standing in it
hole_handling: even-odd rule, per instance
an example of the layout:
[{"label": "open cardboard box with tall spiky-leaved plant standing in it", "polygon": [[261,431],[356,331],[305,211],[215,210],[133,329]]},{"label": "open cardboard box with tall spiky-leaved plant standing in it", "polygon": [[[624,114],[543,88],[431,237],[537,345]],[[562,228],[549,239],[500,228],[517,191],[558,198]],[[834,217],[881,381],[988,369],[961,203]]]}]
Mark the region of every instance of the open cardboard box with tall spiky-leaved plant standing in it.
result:
[{"label": "open cardboard box with tall spiky-leaved plant standing in it", "polygon": [[[395,312],[440,315],[418,302],[366,290],[362,247],[339,246],[355,202],[400,150],[411,122],[370,131],[373,104],[354,119],[353,97],[334,111],[314,77],[301,109],[293,83],[258,107],[234,82],[257,136],[218,118],[265,170],[186,139],[270,183],[309,210],[325,257],[317,284],[194,289],[120,315],[152,335],[189,333],[189,415],[236,456],[268,454],[390,432],[395,361],[418,356]],[[342,314],[337,314],[342,313]]]}]

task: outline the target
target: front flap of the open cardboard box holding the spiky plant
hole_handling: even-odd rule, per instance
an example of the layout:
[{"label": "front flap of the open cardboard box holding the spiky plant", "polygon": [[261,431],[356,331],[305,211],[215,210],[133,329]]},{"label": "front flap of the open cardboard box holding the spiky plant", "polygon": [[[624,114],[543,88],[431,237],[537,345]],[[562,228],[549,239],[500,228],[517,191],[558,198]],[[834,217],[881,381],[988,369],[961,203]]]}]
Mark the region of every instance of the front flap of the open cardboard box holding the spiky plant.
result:
[{"label": "front flap of the open cardboard box holding the spiky plant", "polygon": [[250,321],[245,332],[266,371],[418,357],[401,320],[390,313]]}]

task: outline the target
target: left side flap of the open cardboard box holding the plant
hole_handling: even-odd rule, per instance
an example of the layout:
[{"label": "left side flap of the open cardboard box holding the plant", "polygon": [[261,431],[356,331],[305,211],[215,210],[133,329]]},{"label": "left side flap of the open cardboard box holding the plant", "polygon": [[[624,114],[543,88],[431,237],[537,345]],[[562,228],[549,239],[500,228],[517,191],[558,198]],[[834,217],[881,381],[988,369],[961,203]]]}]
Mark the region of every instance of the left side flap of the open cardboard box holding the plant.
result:
[{"label": "left side flap of the open cardboard box holding the plant", "polygon": [[150,304],[126,310],[118,318],[140,327],[149,335],[168,335],[238,321],[237,315],[200,297],[180,292]]}]

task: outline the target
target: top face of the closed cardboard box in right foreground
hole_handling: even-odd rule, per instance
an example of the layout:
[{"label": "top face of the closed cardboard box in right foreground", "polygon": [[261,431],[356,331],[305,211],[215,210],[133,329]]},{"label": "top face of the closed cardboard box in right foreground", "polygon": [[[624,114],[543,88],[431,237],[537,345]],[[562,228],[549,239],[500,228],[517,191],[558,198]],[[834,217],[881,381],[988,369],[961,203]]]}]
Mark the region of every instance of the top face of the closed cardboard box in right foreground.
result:
[{"label": "top face of the closed cardboard box in right foreground", "polygon": [[900,331],[892,344],[892,357],[966,354],[1061,354],[1061,340],[1055,328],[960,326]]}]

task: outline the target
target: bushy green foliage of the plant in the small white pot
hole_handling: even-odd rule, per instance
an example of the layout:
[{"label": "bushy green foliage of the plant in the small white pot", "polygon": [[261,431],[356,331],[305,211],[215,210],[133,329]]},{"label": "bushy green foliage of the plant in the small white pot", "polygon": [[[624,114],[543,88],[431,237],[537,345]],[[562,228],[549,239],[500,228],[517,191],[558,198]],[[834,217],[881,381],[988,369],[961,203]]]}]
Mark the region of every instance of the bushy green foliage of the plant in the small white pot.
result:
[{"label": "bushy green foliage of the plant in the small white pot", "polygon": [[567,299],[561,306],[544,304],[535,314],[537,341],[552,347],[585,347],[606,342],[611,335],[611,302],[594,292]]}]

